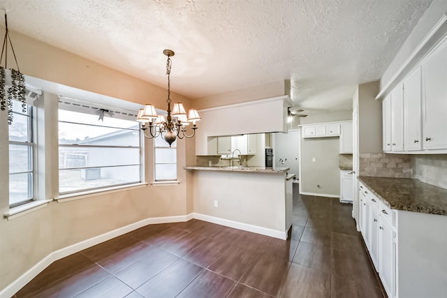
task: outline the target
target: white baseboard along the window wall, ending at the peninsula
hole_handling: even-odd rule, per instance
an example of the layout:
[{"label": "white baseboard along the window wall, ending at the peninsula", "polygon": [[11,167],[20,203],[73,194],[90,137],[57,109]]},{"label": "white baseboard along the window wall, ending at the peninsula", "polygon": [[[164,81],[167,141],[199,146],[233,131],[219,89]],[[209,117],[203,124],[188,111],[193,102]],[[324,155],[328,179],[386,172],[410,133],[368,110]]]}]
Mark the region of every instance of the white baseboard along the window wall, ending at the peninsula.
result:
[{"label": "white baseboard along the window wall, ending at the peninsula", "polygon": [[112,230],[110,232],[105,232],[104,234],[100,234],[95,237],[91,237],[90,239],[86,239],[84,241],[80,241],[71,246],[66,246],[57,251],[53,251],[45,258],[43,258],[36,265],[31,267],[28,271],[26,271],[22,276],[17,278],[13,283],[10,283],[6,288],[0,291],[0,297],[12,297],[18,290],[24,287],[31,279],[36,277],[39,273],[41,273],[46,267],[50,266],[52,262],[57,261],[61,258],[65,258],[68,255],[72,255],[73,253],[78,253],[78,251],[82,251],[85,248],[89,248],[96,244],[100,244],[104,241],[108,241],[112,238],[121,236],[122,234],[126,234],[138,228],[142,228],[145,225],[152,225],[156,223],[179,223],[183,221],[189,221],[193,218],[193,214],[187,214],[182,216],[163,216],[163,217],[154,217],[154,218],[146,218],[142,221],[138,221],[136,223],[131,223],[130,225],[125,225],[122,228],[117,228],[116,230]]}]

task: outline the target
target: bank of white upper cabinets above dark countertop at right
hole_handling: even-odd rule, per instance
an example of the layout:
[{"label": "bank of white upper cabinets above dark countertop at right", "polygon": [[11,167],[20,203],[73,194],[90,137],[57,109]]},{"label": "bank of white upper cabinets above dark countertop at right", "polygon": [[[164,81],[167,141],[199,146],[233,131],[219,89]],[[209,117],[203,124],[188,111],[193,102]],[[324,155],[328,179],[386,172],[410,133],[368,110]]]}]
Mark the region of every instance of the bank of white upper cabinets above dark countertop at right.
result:
[{"label": "bank of white upper cabinets above dark countertop at right", "polygon": [[447,153],[447,40],[383,99],[383,151]]}]

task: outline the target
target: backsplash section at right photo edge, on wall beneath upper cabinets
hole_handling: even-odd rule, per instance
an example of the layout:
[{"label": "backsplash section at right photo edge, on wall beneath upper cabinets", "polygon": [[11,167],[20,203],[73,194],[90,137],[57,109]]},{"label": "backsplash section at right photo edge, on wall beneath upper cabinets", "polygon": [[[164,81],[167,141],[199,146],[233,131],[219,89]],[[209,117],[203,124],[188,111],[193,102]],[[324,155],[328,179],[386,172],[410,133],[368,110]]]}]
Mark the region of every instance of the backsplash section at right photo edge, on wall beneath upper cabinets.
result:
[{"label": "backsplash section at right photo edge, on wall beneath upper cabinets", "polygon": [[447,189],[447,154],[413,156],[413,178]]}]

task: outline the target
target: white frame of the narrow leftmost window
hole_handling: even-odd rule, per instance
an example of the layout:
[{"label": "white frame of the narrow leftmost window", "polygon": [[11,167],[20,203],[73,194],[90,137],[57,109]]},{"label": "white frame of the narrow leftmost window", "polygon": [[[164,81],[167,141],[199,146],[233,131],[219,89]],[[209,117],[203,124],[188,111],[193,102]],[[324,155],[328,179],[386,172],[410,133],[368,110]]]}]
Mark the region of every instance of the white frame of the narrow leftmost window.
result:
[{"label": "white frame of the narrow leftmost window", "polygon": [[[15,103],[20,103],[17,100],[15,100]],[[35,169],[35,151],[34,150],[34,109],[32,105],[29,105],[28,103],[26,103],[27,105],[27,112],[24,113],[21,110],[20,111],[15,111],[13,110],[13,114],[15,115],[21,115],[23,117],[27,117],[27,126],[28,126],[28,135],[27,135],[27,140],[26,141],[12,141],[10,140],[10,134],[9,134],[9,125],[8,124],[8,148],[10,148],[10,145],[15,145],[15,146],[23,146],[23,147],[27,147],[27,159],[28,159],[28,165],[29,165],[29,170],[26,171],[17,171],[17,172],[10,172],[10,160],[11,160],[11,155],[10,155],[10,151],[8,149],[8,179],[9,179],[9,186],[8,186],[8,206],[9,208],[14,208],[17,206],[20,206],[22,204],[27,204],[29,202],[33,202],[34,200],[36,200],[35,198],[35,193],[36,193],[36,189],[35,189],[35,173],[34,173],[34,169]],[[13,120],[14,123],[14,120]],[[11,124],[13,125],[13,124]],[[29,196],[29,198],[25,199],[25,200],[21,200],[18,202],[14,202],[11,204],[11,200],[10,200],[10,183],[11,183],[11,174],[12,175],[16,175],[16,174],[28,174],[28,185],[27,185],[27,193],[30,193],[31,195]]]}]

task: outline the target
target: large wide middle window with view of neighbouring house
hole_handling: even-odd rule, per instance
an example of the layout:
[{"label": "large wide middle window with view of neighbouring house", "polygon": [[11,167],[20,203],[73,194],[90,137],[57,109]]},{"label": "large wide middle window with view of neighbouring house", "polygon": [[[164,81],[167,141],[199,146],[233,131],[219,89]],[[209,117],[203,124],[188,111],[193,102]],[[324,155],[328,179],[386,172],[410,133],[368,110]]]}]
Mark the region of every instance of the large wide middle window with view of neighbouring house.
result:
[{"label": "large wide middle window with view of neighbouring house", "polygon": [[[59,102],[59,193],[141,181],[140,126],[135,115]],[[110,113],[112,114],[112,113]]]}]

